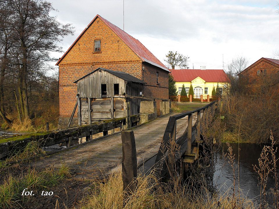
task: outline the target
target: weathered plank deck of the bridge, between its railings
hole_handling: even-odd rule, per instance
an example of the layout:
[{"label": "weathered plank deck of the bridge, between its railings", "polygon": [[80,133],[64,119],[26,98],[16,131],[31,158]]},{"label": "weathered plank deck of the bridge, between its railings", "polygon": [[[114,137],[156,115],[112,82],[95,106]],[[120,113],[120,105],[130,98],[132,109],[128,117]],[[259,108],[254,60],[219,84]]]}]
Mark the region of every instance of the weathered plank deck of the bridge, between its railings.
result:
[{"label": "weathered plank deck of the bridge, between its railings", "polygon": [[[171,113],[133,128],[138,165],[157,154],[169,116],[175,114],[177,113]],[[177,138],[187,128],[187,117],[177,120]],[[193,115],[193,125],[196,119],[197,113]],[[106,176],[106,174],[121,168],[121,159],[122,143],[121,134],[119,133],[52,154],[43,159],[37,159],[30,163],[30,165],[40,170],[47,167],[60,167],[62,164],[65,164],[73,169],[77,179],[103,179],[103,176]]]}]

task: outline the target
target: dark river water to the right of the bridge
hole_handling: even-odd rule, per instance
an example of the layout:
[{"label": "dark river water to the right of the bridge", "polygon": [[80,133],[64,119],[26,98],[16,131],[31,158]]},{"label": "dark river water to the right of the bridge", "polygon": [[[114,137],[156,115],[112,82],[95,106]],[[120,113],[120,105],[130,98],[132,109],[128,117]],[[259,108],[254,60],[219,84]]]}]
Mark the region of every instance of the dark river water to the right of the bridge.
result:
[{"label": "dark river water to the right of the bridge", "polygon": [[[260,188],[258,187],[258,174],[254,171],[253,165],[259,165],[258,158],[260,157],[263,146],[253,144],[239,144],[239,170],[238,170],[238,144],[231,144],[233,154],[235,154],[235,175],[236,175],[236,187],[239,186],[242,193],[249,199],[256,201],[260,200]],[[224,153],[228,153],[228,146],[223,144]],[[277,153],[279,158],[279,153]],[[228,188],[232,188],[233,174],[231,165],[228,163],[228,159],[224,159],[222,156],[222,150],[214,156],[215,169],[213,183],[217,188],[224,193]],[[239,179],[238,179],[239,172]],[[267,182],[267,191],[270,188],[274,188],[274,180],[271,178]],[[267,195],[268,201],[272,203],[272,195]]]}]

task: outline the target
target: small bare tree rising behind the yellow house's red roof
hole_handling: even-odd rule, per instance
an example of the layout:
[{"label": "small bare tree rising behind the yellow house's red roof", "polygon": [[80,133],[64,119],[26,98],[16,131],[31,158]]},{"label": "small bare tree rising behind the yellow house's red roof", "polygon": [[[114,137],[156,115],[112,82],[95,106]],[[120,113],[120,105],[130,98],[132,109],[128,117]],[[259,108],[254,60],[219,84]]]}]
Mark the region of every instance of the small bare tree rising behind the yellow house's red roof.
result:
[{"label": "small bare tree rising behind the yellow house's red roof", "polygon": [[184,56],[182,54],[177,53],[177,51],[174,53],[173,51],[169,51],[169,53],[166,55],[167,59],[164,60],[168,63],[169,66],[171,66],[172,69],[175,68],[175,66],[179,66],[181,69],[186,68],[188,69],[188,60],[190,57]]}]

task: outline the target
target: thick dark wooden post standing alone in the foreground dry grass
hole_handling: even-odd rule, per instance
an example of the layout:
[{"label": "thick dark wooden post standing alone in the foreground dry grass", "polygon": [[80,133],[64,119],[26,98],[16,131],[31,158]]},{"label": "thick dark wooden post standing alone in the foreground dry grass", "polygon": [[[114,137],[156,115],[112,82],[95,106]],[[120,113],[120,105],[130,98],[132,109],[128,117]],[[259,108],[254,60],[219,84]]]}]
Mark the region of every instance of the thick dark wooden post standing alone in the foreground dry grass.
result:
[{"label": "thick dark wooden post standing alone in the foreground dry grass", "polygon": [[122,181],[124,200],[137,188],[137,151],[134,131],[122,131]]}]

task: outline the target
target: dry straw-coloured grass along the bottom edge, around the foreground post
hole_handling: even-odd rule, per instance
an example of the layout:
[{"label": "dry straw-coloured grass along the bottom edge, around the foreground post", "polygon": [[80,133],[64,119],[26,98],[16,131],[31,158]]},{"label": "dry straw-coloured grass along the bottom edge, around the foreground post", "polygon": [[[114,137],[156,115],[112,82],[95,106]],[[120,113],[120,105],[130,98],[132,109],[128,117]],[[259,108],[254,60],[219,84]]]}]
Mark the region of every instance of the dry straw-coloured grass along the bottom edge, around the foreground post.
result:
[{"label": "dry straw-coloured grass along the bottom edge, around the foreground post", "polygon": [[[190,185],[175,180],[171,184],[160,183],[153,175],[137,178],[138,188],[123,204],[123,184],[121,173],[112,174],[103,183],[95,183],[92,195],[84,198],[81,209],[135,209],[135,208],[255,208],[251,200],[242,197],[232,202],[230,191],[223,196],[210,193],[206,187],[197,190]],[[241,207],[240,207],[241,204]],[[239,207],[238,207],[239,206]]]}]

